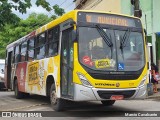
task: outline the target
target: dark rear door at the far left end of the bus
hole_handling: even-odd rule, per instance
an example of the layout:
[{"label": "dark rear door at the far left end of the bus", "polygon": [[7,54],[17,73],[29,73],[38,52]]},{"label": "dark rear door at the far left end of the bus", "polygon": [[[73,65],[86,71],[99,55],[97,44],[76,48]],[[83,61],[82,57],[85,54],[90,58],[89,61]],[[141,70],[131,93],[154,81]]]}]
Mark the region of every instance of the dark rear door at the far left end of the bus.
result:
[{"label": "dark rear door at the far left end of the bus", "polygon": [[11,89],[11,73],[12,73],[12,51],[7,52],[7,61],[5,69],[5,84],[8,89]]}]

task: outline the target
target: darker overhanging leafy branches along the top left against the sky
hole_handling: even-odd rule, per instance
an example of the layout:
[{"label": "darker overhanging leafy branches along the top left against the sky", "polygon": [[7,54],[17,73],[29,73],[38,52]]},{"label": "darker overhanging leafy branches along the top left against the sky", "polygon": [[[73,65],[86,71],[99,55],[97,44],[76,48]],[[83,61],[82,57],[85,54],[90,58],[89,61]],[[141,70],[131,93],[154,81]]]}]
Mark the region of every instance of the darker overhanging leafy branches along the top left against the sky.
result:
[{"label": "darker overhanging leafy branches along the top left against the sky", "polygon": [[[46,0],[36,0],[37,6],[42,6],[47,11],[54,10],[58,16],[64,13],[64,10],[58,5],[51,6]],[[27,8],[32,6],[31,0],[0,0],[0,28],[6,23],[17,24],[20,19],[12,12],[12,9],[20,13],[26,13]],[[53,18],[55,18],[54,16]]]}]

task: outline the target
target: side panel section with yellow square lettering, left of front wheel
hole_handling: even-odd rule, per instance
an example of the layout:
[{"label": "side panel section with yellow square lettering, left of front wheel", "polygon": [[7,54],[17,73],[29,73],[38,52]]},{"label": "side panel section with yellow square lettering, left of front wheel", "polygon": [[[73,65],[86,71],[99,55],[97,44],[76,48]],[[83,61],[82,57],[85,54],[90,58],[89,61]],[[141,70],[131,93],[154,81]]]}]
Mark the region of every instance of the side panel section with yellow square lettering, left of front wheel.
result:
[{"label": "side panel section with yellow square lettering, left of front wheel", "polygon": [[47,59],[28,63],[25,85],[28,93],[45,95],[46,61]]}]

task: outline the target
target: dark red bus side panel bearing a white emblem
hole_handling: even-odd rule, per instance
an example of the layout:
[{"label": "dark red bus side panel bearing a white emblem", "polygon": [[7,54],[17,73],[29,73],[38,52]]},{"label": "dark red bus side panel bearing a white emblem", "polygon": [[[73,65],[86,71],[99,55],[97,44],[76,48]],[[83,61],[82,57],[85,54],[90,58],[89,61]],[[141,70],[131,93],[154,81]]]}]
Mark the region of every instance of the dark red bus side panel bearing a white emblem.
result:
[{"label": "dark red bus side panel bearing a white emblem", "polygon": [[18,89],[21,92],[25,92],[26,68],[27,62],[17,64],[16,76],[18,81]]}]

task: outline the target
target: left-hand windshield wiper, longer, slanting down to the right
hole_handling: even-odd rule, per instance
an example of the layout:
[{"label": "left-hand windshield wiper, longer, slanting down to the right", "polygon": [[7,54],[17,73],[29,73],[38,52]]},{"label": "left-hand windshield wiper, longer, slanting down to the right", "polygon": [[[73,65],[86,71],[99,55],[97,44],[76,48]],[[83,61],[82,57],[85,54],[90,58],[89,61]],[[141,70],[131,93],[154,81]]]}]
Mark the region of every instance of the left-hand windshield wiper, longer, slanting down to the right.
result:
[{"label": "left-hand windshield wiper, longer, slanting down to the right", "polygon": [[106,32],[103,30],[103,28],[99,25],[96,25],[97,31],[99,32],[99,34],[101,35],[101,37],[103,38],[103,40],[105,41],[105,43],[109,46],[112,47],[113,43],[111,41],[111,37],[109,38],[108,35],[106,34]]}]

